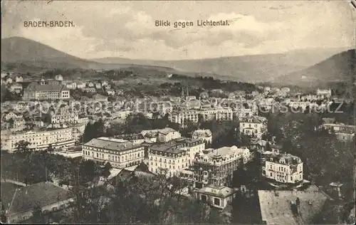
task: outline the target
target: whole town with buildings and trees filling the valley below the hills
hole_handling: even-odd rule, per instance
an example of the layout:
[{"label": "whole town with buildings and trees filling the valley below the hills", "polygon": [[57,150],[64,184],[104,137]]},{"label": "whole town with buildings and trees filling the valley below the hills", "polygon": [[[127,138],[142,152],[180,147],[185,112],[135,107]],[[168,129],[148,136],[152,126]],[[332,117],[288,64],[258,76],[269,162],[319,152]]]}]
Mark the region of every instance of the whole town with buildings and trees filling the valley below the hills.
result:
[{"label": "whole town with buildings and trees filling the valley below the hills", "polygon": [[90,73],[1,71],[2,222],[352,221],[352,96],[169,73],[132,90],[115,78],[130,70]]}]

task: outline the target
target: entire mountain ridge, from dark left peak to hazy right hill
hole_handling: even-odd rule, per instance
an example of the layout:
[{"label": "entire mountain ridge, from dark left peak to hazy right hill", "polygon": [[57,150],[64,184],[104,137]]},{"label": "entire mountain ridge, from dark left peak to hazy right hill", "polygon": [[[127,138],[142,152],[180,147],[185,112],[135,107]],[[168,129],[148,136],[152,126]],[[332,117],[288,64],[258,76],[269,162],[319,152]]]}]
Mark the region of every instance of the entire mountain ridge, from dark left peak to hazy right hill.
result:
[{"label": "entire mountain ridge, from dark left peak to hazy right hill", "polygon": [[[22,63],[36,68],[83,68],[112,70],[122,68],[155,68],[165,73],[205,75],[224,80],[258,83],[278,82],[334,56],[338,48],[296,50],[251,56],[187,59],[180,61],[135,60],[130,58],[83,59],[56,48],[22,37],[1,39],[1,65]],[[287,79],[288,80],[288,79]]]}]

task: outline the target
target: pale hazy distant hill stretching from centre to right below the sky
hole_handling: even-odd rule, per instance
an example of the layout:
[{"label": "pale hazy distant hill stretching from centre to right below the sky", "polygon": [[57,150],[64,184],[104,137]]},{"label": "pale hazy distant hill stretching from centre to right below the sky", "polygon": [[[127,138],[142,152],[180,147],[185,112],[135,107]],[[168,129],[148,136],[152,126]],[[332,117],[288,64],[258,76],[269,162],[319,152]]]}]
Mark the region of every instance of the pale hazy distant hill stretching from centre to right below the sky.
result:
[{"label": "pale hazy distant hill stretching from centre to right below the sky", "polygon": [[[325,58],[340,52],[340,49],[303,49],[281,54],[232,56],[182,61],[149,61],[129,58],[96,58],[99,63],[132,63],[164,66],[193,73],[209,73],[215,78],[229,77],[231,80],[261,82],[278,80],[281,75],[313,66]],[[214,75],[215,74],[215,75]]]}]

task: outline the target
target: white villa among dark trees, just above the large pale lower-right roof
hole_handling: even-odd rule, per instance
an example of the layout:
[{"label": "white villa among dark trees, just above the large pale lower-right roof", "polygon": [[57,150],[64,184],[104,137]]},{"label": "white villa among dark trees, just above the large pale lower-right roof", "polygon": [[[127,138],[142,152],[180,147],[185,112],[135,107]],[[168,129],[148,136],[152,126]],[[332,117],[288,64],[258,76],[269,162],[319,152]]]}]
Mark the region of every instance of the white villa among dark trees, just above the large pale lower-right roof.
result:
[{"label": "white villa among dark trees, just above the large pale lower-right roof", "polygon": [[290,154],[266,154],[262,176],[273,182],[298,184],[303,182],[303,162]]}]

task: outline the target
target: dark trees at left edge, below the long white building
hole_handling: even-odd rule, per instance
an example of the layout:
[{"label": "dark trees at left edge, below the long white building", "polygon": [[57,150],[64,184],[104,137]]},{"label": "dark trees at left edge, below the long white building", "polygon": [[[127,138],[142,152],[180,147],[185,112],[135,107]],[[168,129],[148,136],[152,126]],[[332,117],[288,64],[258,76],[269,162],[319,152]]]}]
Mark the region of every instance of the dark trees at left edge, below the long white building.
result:
[{"label": "dark trees at left edge, below the long white building", "polygon": [[71,159],[50,153],[51,146],[44,151],[31,151],[28,142],[21,141],[18,151],[1,151],[1,177],[15,179],[26,184],[53,181],[60,184],[87,185],[93,179],[110,175],[110,164],[100,167],[91,160]]}]

